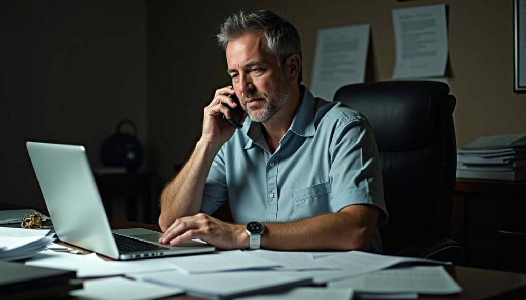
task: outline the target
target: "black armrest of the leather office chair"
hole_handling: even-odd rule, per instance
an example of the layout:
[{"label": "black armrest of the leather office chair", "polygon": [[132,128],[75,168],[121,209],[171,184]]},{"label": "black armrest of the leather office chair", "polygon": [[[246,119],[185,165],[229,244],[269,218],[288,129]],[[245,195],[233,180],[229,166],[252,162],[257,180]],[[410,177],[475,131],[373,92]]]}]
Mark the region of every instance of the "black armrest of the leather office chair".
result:
[{"label": "black armrest of the leather office chair", "polygon": [[437,239],[411,244],[398,251],[397,255],[428,258],[458,265],[463,260],[464,249],[456,241]]}]

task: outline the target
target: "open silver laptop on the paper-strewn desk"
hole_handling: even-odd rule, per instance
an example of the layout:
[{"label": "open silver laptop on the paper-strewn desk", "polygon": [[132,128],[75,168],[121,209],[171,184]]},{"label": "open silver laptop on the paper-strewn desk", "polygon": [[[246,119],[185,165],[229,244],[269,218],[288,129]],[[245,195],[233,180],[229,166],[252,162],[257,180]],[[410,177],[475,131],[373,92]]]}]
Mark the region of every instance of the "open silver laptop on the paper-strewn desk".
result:
[{"label": "open silver laptop on the paper-strewn desk", "polygon": [[179,246],[159,244],[162,234],[153,230],[112,231],[83,146],[28,141],[26,147],[55,233],[61,241],[114,260],[215,250],[198,241]]}]

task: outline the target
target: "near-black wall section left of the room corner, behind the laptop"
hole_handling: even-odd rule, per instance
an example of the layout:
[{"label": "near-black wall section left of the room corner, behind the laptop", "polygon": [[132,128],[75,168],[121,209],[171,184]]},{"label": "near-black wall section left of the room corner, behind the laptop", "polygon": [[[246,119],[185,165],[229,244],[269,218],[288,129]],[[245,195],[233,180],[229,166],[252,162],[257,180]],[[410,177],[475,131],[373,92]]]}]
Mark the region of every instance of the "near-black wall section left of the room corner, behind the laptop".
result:
[{"label": "near-black wall section left of the room corner, behind the laptop", "polygon": [[27,140],[99,148],[117,122],[147,143],[146,3],[0,2],[0,202],[44,207]]}]

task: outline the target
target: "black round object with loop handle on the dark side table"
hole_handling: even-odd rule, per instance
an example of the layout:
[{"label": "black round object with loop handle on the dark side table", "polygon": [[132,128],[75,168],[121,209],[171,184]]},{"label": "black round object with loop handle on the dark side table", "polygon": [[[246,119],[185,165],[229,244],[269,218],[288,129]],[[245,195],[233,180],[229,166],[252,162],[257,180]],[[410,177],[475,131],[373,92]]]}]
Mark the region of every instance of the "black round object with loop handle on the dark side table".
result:
[{"label": "black round object with loop handle on the dark side table", "polygon": [[[133,134],[122,132],[124,125],[133,128]],[[107,138],[100,149],[100,158],[108,167],[125,167],[135,171],[143,163],[144,151],[137,136],[137,126],[130,119],[124,119],[117,124],[115,133]]]}]

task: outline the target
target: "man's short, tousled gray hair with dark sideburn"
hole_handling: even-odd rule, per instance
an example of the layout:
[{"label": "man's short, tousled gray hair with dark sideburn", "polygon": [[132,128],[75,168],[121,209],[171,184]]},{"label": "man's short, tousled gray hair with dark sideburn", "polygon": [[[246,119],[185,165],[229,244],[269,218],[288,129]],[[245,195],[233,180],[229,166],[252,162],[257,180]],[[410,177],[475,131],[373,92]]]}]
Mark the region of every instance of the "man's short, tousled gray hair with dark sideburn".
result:
[{"label": "man's short, tousled gray hair with dark sideburn", "polygon": [[[301,58],[301,41],[296,27],[268,9],[247,14],[243,11],[231,14],[219,27],[217,42],[225,50],[231,39],[248,32],[261,33],[265,37],[266,50],[276,57],[280,68],[292,54],[297,54]],[[300,70],[298,82],[301,80]]]}]

